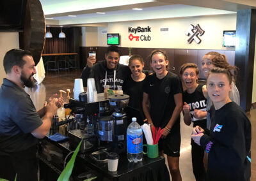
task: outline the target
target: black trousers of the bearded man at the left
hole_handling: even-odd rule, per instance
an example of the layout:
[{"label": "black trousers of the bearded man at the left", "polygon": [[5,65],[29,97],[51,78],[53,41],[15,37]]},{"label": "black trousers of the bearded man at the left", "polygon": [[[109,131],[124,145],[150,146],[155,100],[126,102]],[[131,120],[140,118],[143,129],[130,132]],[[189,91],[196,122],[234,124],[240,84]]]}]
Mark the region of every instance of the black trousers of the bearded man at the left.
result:
[{"label": "black trousers of the bearded man at the left", "polygon": [[13,181],[17,174],[19,181],[36,181],[38,160],[36,159],[36,146],[22,152],[0,155],[0,178]]}]

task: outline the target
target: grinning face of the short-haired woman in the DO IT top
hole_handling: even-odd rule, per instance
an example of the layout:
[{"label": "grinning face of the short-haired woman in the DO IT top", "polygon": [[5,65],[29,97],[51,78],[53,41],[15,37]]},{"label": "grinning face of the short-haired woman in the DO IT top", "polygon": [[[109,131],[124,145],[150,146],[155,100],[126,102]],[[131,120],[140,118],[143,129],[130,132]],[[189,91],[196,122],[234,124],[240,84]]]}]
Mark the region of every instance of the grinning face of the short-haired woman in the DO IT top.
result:
[{"label": "grinning face of the short-haired woman in the DO IT top", "polygon": [[193,89],[197,87],[196,80],[198,80],[198,75],[196,75],[195,68],[186,68],[182,73],[182,80],[187,89]]}]

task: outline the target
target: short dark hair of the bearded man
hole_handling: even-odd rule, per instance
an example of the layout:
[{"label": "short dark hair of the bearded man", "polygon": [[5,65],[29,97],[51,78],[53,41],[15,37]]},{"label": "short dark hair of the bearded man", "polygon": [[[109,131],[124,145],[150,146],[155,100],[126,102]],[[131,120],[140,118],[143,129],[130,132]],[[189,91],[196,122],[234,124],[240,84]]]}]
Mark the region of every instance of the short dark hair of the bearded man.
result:
[{"label": "short dark hair of the bearded man", "polygon": [[32,56],[28,50],[12,49],[6,52],[4,55],[4,71],[5,73],[11,73],[13,66],[19,66],[23,68],[26,61],[23,57],[29,55]]}]

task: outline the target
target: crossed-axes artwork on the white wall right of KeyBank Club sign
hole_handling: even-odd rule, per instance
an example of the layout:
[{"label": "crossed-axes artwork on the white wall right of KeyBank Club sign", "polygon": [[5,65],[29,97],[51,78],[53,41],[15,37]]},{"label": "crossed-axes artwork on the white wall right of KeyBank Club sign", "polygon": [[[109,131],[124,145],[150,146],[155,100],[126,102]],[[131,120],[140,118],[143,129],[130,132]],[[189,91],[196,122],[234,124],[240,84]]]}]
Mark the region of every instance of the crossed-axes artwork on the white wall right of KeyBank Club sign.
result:
[{"label": "crossed-axes artwork on the white wall right of KeyBank Club sign", "polygon": [[190,36],[188,39],[188,43],[192,43],[193,40],[196,41],[197,44],[201,43],[201,39],[198,36],[202,36],[204,34],[204,30],[200,27],[199,24],[194,26],[193,24],[189,25],[187,31],[185,32],[186,36]]}]

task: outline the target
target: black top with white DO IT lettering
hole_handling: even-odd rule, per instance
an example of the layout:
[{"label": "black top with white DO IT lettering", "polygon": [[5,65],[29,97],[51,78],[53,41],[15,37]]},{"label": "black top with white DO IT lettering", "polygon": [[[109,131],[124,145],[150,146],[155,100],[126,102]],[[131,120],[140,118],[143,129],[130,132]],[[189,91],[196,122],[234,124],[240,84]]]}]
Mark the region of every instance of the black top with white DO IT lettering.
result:
[{"label": "black top with white DO IT lettering", "polygon": [[193,127],[200,126],[203,129],[206,128],[206,116],[204,119],[198,120],[193,116],[194,110],[206,111],[207,99],[204,97],[202,90],[203,85],[198,85],[195,91],[189,94],[187,91],[183,92],[183,102],[188,103],[189,112],[191,113],[191,119],[193,122]]}]

